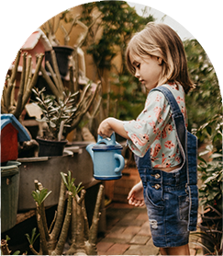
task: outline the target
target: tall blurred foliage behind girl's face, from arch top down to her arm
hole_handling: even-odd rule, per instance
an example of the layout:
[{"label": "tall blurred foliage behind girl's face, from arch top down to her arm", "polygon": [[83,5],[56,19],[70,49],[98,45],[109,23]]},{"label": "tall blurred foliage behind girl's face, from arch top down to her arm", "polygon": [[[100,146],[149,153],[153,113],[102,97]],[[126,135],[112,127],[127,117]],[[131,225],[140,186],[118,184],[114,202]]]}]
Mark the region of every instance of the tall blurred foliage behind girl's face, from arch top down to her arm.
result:
[{"label": "tall blurred foliage behind girl's face, from arch top down to her arm", "polygon": [[[154,18],[144,9],[143,17],[124,0],[83,0],[83,18],[91,23],[91,14],[95,6],[102,13],[100,24],[89,33],[87,52],[92,54],[99,79],[109,71],[111,91],[104,94],[105,115],[115,116],[123,120],[135,119],[142,111],[146,95],[143,93],[138,79],[133,77],[125,64],[125,52],[128,41],[137,31],[153,21]],[[94,40],[95,31],[102,28],[99,41]],[[114,64],[114,58],[120,57],[120,67]],[[106,85],[107,87],[107,85]],[[107,99],[109,98],[109,102]]]}]

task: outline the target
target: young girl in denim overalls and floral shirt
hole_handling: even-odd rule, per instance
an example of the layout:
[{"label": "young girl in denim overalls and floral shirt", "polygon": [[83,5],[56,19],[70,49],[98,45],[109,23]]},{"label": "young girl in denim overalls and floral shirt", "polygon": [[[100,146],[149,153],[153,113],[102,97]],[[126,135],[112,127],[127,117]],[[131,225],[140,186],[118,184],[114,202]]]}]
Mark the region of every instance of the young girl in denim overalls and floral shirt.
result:
[{"label": "young girl in denim overalls and floral shirt", "polygon": [[162,256],[188,256],[197,213],[196,140],[184,125],[184,93],[194,85],[183,43],[169,26],[149,23],[129,41],[127,64],[149,91],[145,108],[136,121],[107,118],[98,134],[128,139],[141,178],[128,204],[146,204],[152,240]]}]

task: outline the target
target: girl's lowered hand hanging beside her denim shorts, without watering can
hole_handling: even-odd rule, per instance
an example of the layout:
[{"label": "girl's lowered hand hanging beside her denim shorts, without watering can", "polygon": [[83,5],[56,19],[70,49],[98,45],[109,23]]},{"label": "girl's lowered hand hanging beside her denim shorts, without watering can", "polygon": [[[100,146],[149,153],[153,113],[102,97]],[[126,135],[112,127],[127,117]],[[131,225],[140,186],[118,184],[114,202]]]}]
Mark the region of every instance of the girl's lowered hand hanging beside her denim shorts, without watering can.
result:
[{"label": "girl's lowered hand hanging beside her denim shorts, without watering can", "polygon": [[143,206],[144,203],[144,195],[143,195],[143,185],[142,182],[139,181],[128,193],[128,204],[134,206]]}]

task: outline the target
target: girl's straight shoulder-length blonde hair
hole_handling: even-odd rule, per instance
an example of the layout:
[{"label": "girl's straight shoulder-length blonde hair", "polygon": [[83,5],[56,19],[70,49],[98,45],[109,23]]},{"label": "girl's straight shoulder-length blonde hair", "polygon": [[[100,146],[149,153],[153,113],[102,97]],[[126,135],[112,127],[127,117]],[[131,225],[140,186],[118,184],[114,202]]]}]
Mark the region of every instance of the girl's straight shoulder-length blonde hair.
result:
[{"label": "girl's straight shoulder-length blonde hair", "polygon": [[183,42],[168,25],[150,22],[129,41],[126,58],[131,74],[135,75],[135,67],[129,55],[143,58],[148,54],[162,59],[162,78],[158,86],[180,83],[185,93],[195,87],[188,74]]}]

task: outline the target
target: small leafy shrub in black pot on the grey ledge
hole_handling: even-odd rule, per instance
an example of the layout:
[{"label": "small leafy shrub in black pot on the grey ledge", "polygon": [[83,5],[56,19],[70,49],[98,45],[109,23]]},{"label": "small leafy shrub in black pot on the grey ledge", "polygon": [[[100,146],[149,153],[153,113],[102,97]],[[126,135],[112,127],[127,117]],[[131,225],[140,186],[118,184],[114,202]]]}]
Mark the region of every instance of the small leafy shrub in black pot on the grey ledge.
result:
[{"label": "small leafy shrub in black pot on the grey ledge", "polygon": [[75,111],[74,97],[76,94],[63,92],[62,99],[56,99],[54,95],[44,95],[45,88],[33,89],[38,100],[39,108],[42,111],[42,118],[39,122],[46,122],[47,129],[43,138],[37,138],[39,145],[39,157],[61,156],[67,140],[64,139],[63,130],[71,127],[72,113]]}]

